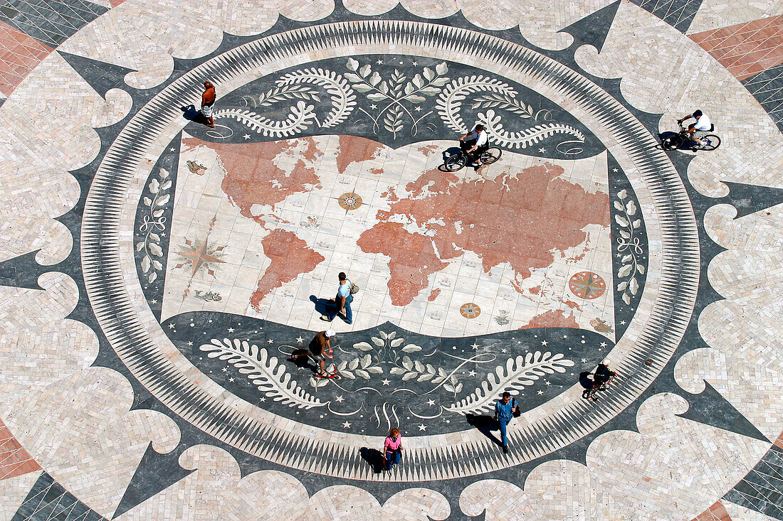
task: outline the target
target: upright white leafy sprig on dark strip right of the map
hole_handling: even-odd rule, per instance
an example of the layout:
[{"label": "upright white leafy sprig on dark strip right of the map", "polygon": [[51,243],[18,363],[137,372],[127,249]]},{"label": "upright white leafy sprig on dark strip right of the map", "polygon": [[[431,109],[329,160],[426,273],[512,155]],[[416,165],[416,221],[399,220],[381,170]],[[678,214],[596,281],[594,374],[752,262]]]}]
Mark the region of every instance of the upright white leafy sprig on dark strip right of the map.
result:
[{"label": "upright white leafy sprig on dark strip right of the map", "polygon": [[622,301],[630,305],[631,296],[639,291],[637,275],[644,275],[644,265],[640,264],[639,257],[644,250],[641,247],[638,230],[641,228],[641,219],[634,218],[637,214],[637,204],[628,197],[627,190],[620,190],[615,200],[615,210],[622,214],[615,214],[615,222],[619,225],[619,237],[617,238],[617,251],[622,253],[620,257],[620,269],[617,271],[617,291],[622,292]]}]

